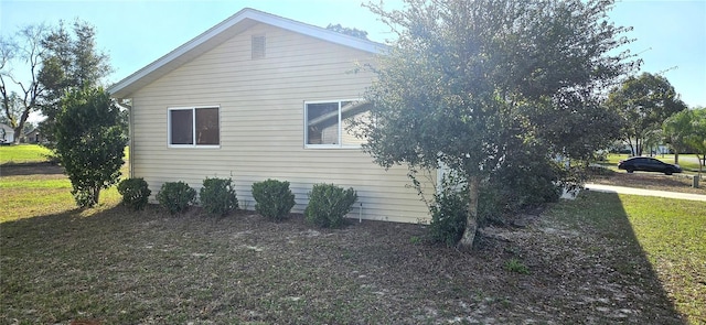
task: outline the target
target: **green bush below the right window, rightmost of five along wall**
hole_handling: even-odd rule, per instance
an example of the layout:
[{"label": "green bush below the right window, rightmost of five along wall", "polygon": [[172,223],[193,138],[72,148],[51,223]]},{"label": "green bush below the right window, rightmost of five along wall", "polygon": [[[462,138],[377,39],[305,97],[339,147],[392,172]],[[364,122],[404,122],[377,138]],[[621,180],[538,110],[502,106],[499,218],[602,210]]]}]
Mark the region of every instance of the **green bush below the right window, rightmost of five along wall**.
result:
[{"label": "green bush below the right window, rightmost of five along wall", "polygon": [[314,184],[309,192],[309,205],[304,209],[304,219],[323,228],[338,228],[343,225],[343,216],[350,210],[357,199],[357,194],[352,187],[343,187],[333,184]]}]

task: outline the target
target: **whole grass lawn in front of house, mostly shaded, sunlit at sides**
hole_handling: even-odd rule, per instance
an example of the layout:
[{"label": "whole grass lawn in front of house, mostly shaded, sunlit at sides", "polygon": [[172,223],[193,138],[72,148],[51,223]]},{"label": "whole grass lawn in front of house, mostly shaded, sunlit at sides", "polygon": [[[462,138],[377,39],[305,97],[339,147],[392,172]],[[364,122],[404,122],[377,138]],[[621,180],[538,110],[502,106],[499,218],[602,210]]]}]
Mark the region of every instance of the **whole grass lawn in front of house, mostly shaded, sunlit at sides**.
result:
[{"label": "whole grass lawn in front of house, mostly shaded, sunlit at sides", "polygon": [[706,203],[584,193],[460,252],[420,225],[131,212],[115,189],[78,210],[62,177],[0,177],[18,210],[0,224],[1,324],[706,322]]}]

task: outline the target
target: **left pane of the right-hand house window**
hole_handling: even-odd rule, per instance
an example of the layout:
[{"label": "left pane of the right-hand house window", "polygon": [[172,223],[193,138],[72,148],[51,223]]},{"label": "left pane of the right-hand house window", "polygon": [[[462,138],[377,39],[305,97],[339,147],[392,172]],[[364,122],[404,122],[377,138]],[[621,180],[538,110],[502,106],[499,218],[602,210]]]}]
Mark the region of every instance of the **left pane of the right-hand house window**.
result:
[{"label": "left pane of the right-hand house window", "polygon": [[307,104],[307,144],[339,144],[339,102]]}]

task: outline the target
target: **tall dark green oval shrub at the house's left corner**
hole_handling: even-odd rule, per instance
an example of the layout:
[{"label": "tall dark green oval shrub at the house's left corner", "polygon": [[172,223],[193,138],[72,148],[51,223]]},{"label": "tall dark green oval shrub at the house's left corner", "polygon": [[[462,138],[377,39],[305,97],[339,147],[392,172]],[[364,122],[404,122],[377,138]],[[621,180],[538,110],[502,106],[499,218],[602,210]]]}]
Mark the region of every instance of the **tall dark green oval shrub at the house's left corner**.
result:
[{"label": "tall dark green oval shrub at the house's left corner", "polygon": [[81,207],[98,203],[101,188],[118,182],[127,139],[120,110],[103,88],[67,93],[56,115],[56,158]]}]

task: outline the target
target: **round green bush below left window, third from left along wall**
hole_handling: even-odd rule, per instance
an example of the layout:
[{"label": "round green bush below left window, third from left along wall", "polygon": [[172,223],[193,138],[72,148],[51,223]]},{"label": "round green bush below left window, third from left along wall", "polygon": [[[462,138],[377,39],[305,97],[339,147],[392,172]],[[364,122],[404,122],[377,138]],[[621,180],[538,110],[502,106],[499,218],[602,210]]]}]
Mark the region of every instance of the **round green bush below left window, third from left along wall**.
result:
[{"label": "round green bush below left window, third from left along wall", "polygon": [[225,216],[238,208],[238,199],[231,178],[206,177],[203,181],[203,187],[199,191],[199,198],[201,207],[211,215]]}]

